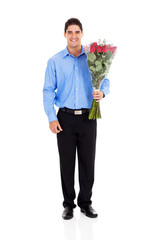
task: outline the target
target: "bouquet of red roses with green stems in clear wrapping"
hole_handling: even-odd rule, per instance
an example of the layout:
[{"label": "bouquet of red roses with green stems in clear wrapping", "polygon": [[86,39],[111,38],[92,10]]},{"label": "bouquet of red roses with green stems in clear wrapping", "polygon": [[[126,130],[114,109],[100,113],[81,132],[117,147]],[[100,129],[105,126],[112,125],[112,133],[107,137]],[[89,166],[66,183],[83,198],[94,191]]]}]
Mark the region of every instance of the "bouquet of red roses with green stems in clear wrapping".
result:
[{"label": "bouquet of red roses with green stems in clear wrapping", "polygon": [[[106,44],[105,40],[103,43],[99,40],[98,43],[93,42],[90,45],[84,46],[94,91],[99,91],[102,81],[107,76],[116,49],[117,47]],[[93,99],[89,119],[97,118],[101,118],[100,105],[99,102]]]}]

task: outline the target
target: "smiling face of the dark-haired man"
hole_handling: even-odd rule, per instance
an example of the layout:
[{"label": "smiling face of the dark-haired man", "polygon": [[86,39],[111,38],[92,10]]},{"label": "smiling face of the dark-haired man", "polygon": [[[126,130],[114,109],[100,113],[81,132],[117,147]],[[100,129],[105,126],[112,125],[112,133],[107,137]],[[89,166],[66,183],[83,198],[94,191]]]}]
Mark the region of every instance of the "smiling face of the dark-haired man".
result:
[{"label": "smiling face of the dark-haired man", "polygon": [[67,45],[70,48],[77,48],[81,46],[83,32],[78,25],[70,25],[67,28],[66,33],[64,33],[64,36],[67,39]]}]

